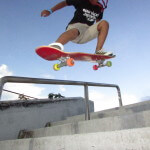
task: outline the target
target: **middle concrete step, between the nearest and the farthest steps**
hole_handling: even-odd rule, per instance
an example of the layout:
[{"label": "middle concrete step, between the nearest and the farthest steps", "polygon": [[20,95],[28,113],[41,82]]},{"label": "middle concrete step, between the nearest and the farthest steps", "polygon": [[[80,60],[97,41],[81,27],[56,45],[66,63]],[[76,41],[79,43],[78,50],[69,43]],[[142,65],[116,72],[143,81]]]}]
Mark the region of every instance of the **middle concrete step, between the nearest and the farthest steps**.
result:
[{"label": "middle concrete step, between the nearest and the farthest steps", "polygon": [[150,110],[129,115],[68,123],[52,127],[40,128],[33,131],[24,131],[24,136],[22,136],[21,138],[72,135],[100,131],[115,131],[122,129],[150,127],[149,116]]}]

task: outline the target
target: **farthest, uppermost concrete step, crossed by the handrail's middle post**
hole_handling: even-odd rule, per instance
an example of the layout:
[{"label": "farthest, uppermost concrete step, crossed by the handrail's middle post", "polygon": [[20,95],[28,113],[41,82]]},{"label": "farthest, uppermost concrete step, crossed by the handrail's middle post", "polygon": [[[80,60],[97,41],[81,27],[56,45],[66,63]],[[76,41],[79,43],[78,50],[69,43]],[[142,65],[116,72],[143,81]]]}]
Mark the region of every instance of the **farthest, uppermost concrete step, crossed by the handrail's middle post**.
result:
[{"label": "farthest, uppermost concrete step, crossed by the handrail's middle post", "polygon": [[[133,114],[141,111],[150,110],[150,101],[144,101],[136,104],[130,104],[123,107],[116,107],[112,109],[102,110],[99,112],[91,113],[91,119],[99,119],[113,116],[121,116],[125,114]],[[48,122],[47,126],[55,126],[66,123],[73,123],[78,121],[84,121],[85,115],[76,115],[73,117],[67,117],[66,120],[58,121],[58,122]]]}]

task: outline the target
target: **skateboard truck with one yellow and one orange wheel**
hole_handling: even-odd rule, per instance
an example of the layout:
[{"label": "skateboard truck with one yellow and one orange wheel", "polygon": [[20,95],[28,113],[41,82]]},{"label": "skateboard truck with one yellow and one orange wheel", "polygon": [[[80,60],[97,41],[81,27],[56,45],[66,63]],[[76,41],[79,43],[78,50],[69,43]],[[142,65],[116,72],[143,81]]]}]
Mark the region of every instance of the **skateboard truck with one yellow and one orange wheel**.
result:
[{"label": "skateboard truck with one yellow and one orange wheel", "polygon": [[61,62],[60,64],[54,64],[53,65],[53,69],[55,71],[60,70],[60,68],[64,67],[64,66],[69,66],[69,67],[74,66],[74,59],[73,58],[70,58],[70,57],[61,57],[59,59],[59,61]]}]

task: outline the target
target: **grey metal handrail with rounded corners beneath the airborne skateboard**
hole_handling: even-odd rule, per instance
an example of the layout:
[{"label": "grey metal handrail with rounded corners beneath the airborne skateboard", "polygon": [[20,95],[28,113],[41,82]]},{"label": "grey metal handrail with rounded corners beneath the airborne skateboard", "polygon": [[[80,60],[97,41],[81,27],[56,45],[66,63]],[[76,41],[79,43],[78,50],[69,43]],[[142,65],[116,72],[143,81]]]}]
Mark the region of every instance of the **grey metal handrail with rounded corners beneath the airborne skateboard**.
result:
[{"label": "grey metal handrail with rounded corners beneath the airborne skateboard", "polygon": [[7,82],[13,83],[35,83],[35,84],[56,84],[56,85],[82,85],[84,86],[84,96],[85,96],[85,120],[90,120],[89,112],[89,95],[88,86],[99,86],[99,87],[113,87],[117,89],[119,106],[122,106],[121,91],[118,85],[115,84],[105,84],[105,83],[93,83],[93,82],[83,82],[83,81],[70,81],[70,80],[55,80],[55,79],[42,79],[42,78],[28,78],[28,77],[17,77],[17,76],[5,76],[0,78],[0,99],[3,91],[4,84]]}]

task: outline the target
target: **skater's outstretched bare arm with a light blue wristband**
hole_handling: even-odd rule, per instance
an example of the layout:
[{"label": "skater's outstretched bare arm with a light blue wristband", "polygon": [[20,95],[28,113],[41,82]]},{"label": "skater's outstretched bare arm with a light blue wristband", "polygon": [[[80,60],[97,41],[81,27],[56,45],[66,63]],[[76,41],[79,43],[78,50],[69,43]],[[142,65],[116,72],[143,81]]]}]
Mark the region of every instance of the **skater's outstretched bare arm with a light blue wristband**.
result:
[{"label": "skater's outstretched bare arm with a light blue wristband", "polygon": [[59,10],[59,9],[61,9],[61,8],[64,8],[64,7],[66,7],[66,6],[67,6],[66,1],[62,1],[62,2],[58,3],[57,5],[55,5],[54,7],[52,7],[52,8],[50,9],[50,11],[49,11],[49,10],[43,10],[43,11],[41,12],[41,17],[47,17],[47,16],[49,16],[52,12],[55,12],[55,11],[57,11],[57,10]]}]

